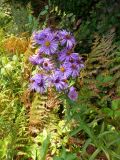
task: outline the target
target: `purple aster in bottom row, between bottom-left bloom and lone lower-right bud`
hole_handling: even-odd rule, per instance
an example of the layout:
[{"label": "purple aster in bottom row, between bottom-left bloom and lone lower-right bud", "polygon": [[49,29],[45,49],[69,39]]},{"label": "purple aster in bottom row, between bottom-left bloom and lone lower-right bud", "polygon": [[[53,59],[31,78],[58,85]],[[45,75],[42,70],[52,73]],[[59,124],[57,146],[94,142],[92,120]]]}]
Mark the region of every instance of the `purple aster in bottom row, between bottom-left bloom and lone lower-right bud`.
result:
[{"label": "purple aster in bottom row, between bottom-left bloom and lone lower-right bud", "polygon": [[52,75],[51,83],[56,87],[57,91],[64,90],[68,87],[66,79],[58,74],[58,72]]}]

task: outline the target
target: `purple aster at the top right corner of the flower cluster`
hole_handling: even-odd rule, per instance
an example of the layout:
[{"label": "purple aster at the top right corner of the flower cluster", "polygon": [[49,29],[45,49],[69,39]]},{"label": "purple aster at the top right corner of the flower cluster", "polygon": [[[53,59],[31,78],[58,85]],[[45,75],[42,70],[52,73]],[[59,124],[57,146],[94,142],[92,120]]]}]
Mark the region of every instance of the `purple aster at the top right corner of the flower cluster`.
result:
[{"label": "purple aster at the top right corner of the flower cluster", "polygon": [[65,45],[68,49],[71,49],[75,46],[75,38],[71,35],[70,32],[67,32],[66,30],[60,31],[59,35],[61,37],[61,45]]}]

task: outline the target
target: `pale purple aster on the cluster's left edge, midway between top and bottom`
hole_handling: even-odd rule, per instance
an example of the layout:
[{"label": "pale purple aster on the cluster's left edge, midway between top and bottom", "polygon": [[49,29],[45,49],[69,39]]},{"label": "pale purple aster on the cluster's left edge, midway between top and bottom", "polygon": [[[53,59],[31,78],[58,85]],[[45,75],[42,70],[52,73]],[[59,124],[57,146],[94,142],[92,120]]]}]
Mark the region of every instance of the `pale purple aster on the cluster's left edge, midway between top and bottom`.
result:
[{"label": "pale purple aster on the cluster's left edge, midway between top and bottom", "polygon": [[43,62],[43,58],[39,54],[34,54],[33,56],[30,56],[29,61],[33,65],[38,65]]}]

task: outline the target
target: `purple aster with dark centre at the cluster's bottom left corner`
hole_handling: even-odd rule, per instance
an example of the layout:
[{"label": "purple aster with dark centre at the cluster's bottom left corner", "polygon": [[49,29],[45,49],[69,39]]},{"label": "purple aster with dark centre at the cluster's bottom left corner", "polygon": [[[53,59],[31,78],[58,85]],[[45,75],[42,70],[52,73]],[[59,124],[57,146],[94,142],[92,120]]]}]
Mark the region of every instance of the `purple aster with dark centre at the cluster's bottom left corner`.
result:
[{"label": "purple aster with dark centre at the cluster's bottom left corner", "polygon": [[31,78],[31,85],[30,85],[30,89],[31,90],[35,90],[38,93],[45,93],[47,90],[47,78],[46,76],[42,75],[42,74],[35,74],[32,78]]}]

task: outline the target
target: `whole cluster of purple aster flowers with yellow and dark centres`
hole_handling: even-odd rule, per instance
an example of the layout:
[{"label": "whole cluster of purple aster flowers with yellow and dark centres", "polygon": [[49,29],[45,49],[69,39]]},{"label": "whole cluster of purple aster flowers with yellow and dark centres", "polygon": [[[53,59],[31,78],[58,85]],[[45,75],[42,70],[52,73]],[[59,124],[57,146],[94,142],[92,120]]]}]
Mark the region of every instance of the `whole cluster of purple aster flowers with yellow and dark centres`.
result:
[{"label": "whole cluster of purple aster flowers with yellow and dark centres", "polygon": [[74,52],[74,36],[66,30],[46,28],[33,33],[33,45],[37,52],[29,60],[39,70],[31,78],[30,88],[43,94],[47,88],[54,87],[58,92],[68,93],[68,97],[75,101],[78,93],[70,82],[79,76],[84,64]]}]

